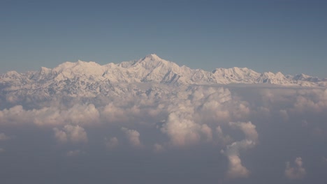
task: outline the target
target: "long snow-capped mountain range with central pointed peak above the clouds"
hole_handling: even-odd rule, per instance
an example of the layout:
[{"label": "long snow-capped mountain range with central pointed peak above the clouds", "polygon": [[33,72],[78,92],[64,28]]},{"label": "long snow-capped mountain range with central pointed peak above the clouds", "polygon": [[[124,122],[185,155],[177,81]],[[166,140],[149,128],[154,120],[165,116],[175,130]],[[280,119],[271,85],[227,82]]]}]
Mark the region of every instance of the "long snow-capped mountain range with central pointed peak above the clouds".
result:
[{"label": "long snow-capped mountain range with central pointed peak above the clouds", "polygon": [[[78,61],[34,72],[6,72],[0,75],[1,98],[21,95],[50,97],[108,95],[124,91],[131,84],[277,84],[282,86],[327,86],[327,79],[307,75],[283,75],[281,72],[255,72],[248,68],[217,68],[212,72],[176,63],[150,54],[143,59],[99,65]],[[128,89],[131,91],[131,89]],[[137,91],[138,89],[134,89]],[[8,99],[7,99],[8,100]]]}]

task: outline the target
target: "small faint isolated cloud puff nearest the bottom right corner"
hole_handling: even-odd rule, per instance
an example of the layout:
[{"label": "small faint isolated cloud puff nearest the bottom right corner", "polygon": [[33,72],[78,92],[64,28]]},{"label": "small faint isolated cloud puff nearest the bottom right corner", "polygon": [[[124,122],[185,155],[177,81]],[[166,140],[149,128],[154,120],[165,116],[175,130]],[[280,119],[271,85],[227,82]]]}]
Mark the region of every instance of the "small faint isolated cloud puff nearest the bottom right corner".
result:
[{"label": "small faint isolated cloud puff nearest the bottom right corner", "polygon": [[303,178],[307,172],[303,167],[302,158],[298,157],[294,160],[294,167],[291,167],[290,162],[286,162],[285,176],[291,180]]}]

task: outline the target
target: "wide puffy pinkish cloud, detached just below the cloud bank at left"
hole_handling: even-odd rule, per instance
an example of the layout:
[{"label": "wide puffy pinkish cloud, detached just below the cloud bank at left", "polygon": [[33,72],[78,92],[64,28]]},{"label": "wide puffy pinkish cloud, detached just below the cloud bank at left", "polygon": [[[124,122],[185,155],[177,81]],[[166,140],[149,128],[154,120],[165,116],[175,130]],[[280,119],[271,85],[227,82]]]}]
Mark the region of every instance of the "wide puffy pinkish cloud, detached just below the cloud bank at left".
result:
[{"label": "wide puffy pinkish cloud, detached just below the cloud bank at left", "polygon": [[61,143],[87,143],[87,132],[79,125],[65,125],[63,130],[53,128],[54,137]]}]

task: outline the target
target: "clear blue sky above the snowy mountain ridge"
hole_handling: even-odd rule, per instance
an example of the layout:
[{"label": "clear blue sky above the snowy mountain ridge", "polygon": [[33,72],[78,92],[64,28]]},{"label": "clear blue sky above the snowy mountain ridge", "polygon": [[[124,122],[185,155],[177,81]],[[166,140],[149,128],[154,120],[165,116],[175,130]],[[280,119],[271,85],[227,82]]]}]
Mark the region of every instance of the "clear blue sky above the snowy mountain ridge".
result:
[{"label": "clear blue sky above the snowy mountain ridge", "polygon": [[327,1],[0,0],[0,73],[151,53],[205,70],[327,77]]}]

